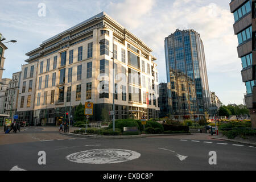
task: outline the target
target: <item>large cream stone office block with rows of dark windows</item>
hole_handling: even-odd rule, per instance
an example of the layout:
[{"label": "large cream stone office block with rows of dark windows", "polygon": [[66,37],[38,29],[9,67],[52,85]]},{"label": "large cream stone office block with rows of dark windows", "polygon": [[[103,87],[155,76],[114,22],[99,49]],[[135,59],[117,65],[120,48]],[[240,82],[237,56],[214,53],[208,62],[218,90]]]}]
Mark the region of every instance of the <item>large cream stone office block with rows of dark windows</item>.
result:
[{"label": "large cream stone office block with rows of dark windows", "polygon": [[19,121],[58,125],[67,121],[69,108],[69,115],[74,115],[75,107],[87,101],[94,103],[93,121],[108,120],[113,85],[115,119],[139,119],[143,114],[157,118],[158,71],[151,52],[104,12],[45,40],[26,53],[16,112]]}]

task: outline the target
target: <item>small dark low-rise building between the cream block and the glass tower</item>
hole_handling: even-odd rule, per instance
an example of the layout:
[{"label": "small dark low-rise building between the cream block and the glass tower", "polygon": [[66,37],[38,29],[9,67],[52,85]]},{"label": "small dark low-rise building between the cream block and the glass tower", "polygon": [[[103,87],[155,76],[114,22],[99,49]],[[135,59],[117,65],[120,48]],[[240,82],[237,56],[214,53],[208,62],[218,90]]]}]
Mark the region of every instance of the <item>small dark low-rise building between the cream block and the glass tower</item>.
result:
[{"label": "small dark low-rise building between the cream block and the glass tower", "polygon": [[168,90],[167,83],[159,84],[159,97],[158,97],[158,105],[160,108],[159,117],[168,117],[169,114],[169,104],[168,104]]}]

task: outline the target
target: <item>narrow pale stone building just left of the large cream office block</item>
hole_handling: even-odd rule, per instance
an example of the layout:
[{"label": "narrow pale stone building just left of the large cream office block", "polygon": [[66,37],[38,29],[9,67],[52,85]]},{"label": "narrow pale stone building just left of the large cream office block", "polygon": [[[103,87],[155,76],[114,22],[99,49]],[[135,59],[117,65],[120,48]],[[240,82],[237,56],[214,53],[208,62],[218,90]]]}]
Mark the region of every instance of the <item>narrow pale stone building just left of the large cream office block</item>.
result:
[{"label": "narrow pale stone building just left of the large cream office block", "polygon": [[9,82],[9,88],[6,89],[7,101],[5,103],[5,114],[10,115],[10,118],[13,118],[18,108],[20,74],[21,72],[13,73],[13,79]]}]

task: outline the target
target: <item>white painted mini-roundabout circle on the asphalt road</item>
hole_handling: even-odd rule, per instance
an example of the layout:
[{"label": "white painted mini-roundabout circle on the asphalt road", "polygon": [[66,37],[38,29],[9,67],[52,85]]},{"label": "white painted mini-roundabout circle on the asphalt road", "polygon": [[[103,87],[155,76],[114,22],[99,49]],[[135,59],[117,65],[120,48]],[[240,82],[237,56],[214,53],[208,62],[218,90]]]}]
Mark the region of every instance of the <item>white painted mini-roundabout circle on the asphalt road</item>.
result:
[{"label": "white painted mini-roundabout circle on the asphalt road", "polygon": [[83,164],[112,164],[122,163],[141,156],[138,152],[123,149],[94,149],[76,152],[66,158],[75,163]]}]

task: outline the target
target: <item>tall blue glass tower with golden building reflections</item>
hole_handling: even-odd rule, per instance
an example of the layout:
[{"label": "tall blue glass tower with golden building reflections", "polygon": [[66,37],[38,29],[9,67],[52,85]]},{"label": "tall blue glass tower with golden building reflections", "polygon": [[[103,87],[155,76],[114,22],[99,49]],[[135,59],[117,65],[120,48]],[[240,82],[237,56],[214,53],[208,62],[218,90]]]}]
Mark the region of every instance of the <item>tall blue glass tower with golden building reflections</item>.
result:
[{"label": "tall blue glass tower with golden building reflections", "polygon": [[210,92],[204,46],[194,30],[176,30],[165,39],[169,112],[177,119],[204,117]]}]

